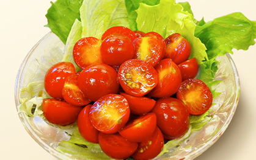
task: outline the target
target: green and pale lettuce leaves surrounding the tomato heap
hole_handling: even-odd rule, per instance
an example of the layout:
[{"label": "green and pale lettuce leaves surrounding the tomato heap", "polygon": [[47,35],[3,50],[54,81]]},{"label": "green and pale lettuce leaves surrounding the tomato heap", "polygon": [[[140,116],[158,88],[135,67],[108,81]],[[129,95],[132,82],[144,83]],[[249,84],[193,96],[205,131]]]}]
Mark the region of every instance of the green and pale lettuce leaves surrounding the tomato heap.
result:
[{"label": "green and pale lettuce leaves surrounding the tomato heap", "polygon": [[[75,65],[76,71],[79,71],[72,56],[76,41],[82,37],[100,38],[110,27],[125,26],[131,30],[141,30],[146,33],[153,31],[164,38],[172,33],[181,33],[192,46],[189,58],[197,58],[199,63],[197,78],[207,84],[213,98],[220,94],[213,88],[220,82],[214,80],[219,64],[216,57],[232,53],[233,48],[246,50],[255,44],[254,39],[256,38],[256,22],[249,21],[243,14],[232,13],[205,23],[203,19],[200,21],[194,19],[188,2],[175,4],[175,1],[167,0],[143,1],[143,3],[138,1],[70,2],[57,0],[48,10],[46,17],[48,18],[47,26],[65,44],[65,50],[64,55],[57,50],[51,52],[38,67],[34,78],[36,80],[33,80],[25,88],[21,88],[19,111],[26,113],[27,116],[43,116],[40,107],[43,99],[49,98],[49,95],[45,92],[42,79],[40,80],[38,77],[42,77],[39,70],[49,68],[47,60],[53,59],[51,57],[54,56],[57,57],[53,59],[55,63],[69,61]],[[185,141],[192,131],[200,130],[211,119],[208,114],[210,112],[200,116],[191,116],[188,132],[175,141],[167,142],[160,155],[167,152],[167,148]],[[59,128],[65,130],[65,128]],[[84,141],[78,130],[72,133],[70,141],[60,143],[57,150],[81,158],[107,158],[100,147]],[[95,155],[95,153],[97,154]]]}]

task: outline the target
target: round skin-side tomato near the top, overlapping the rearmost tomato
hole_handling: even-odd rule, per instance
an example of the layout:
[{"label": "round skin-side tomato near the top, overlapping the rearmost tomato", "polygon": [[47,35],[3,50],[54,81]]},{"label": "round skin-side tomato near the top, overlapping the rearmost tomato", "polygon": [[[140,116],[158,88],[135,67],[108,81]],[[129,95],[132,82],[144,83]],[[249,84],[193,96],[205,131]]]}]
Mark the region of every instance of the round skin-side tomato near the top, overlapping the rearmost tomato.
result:
[{"label": "round skin-side tomato near the top, overlapping the rearmost tomato", "polygon": [[103,40],[100,52],[104,63],[118,66],[133,58],[134,46],[125,35],[109,35]]}]

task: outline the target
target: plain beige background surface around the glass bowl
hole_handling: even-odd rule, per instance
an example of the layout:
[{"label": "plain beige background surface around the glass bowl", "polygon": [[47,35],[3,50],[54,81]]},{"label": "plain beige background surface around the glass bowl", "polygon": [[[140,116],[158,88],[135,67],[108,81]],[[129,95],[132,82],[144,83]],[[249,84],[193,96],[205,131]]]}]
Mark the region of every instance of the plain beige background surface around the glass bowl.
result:
[{"label": "plain beige background surface around the glass bowl", "polygon": [[[189,0],[188,0],[189,1]],[[178,1],[180,2],[180,1]],[[256,21],[255,0],[191,0],[196,19],[205,21],[242,12]],[[50,30],[46,10],[50,1],[9,0],[0,3],[0,159],[56,159],[27,134],[16,113],[15,78],[27,52]],[[241,81],[241,97],[232,122],[221,138],[196,160],[256,159],[256,46],[232,55]]]}]

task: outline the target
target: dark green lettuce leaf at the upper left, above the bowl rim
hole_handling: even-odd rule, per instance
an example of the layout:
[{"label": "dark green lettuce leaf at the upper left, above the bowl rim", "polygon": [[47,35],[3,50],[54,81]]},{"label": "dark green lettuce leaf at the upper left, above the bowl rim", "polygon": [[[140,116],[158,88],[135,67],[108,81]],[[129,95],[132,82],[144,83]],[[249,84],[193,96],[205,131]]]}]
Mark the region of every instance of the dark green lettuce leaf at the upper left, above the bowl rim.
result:
[{"label": "dark green lettuce leaf at the upper left, above the bowl rim", "polygon": [[49,27],[64,44],[66,44],[75,19],[80,20],[79,9],[82,1],[57,0],[56,2],[51,2],[51,7],[49,7],[45,15],[48,20],[46,27]]}]

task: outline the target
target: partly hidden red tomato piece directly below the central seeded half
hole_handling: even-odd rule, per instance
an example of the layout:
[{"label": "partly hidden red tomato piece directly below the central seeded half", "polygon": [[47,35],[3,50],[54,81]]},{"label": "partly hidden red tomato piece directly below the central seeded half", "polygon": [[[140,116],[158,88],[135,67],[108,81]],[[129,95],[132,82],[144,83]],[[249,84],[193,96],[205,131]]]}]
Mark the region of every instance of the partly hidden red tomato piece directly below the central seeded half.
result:
[{"label": "partly hidden red tomato piece directly below the central seeded half", "polygon": [[125,97],[128,101],[131,113],[142,115],[148,113],[155,106],[156,101],[148,97],[134,97],[126,94],[125,92],[120,92],[120,95]]}]

